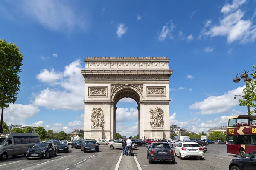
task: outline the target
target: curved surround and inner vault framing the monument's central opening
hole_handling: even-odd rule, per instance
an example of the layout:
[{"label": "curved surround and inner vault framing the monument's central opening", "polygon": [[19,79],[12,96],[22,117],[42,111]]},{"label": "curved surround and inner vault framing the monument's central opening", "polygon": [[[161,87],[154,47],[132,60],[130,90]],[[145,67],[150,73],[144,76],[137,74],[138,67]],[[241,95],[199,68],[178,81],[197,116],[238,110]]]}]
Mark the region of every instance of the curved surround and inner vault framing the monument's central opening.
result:
[{"label": "curved surround and inner vault framing the monument's central opening", "polygon": [[[114,86],[114,85],[113,85]],[[112,86],[112,87],[113,87]],[[116,139],[116,104],[119,102],[119,100],[123,98],[131,98],[134,99],[135,102],[137,103],[138,107],[138,133],[139,133],[139,138],[141,138],[140,135],[140,101],[143,100],[143,94],[141,91],[136,87],[136,85],[120,85],[119,87],[113,88],[113,94],[111,95],[111,100],[113,101],[114,104],[114,120],[113,120],[113,136],[114,139]]]}]

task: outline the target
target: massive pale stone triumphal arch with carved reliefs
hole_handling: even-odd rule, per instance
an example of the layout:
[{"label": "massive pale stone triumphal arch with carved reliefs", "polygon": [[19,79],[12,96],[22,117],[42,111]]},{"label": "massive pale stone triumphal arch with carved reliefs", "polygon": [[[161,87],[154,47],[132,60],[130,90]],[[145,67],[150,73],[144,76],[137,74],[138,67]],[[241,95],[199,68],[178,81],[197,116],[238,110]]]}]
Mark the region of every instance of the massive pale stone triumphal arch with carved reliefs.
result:
[{"label": "massive pale stone triumphal arch with carved reliefs", "polygon": [[84,137],[115,139],[116,103],[125,97],[138,104],[139,137],[168,138],[168,57],[86,57]]}]

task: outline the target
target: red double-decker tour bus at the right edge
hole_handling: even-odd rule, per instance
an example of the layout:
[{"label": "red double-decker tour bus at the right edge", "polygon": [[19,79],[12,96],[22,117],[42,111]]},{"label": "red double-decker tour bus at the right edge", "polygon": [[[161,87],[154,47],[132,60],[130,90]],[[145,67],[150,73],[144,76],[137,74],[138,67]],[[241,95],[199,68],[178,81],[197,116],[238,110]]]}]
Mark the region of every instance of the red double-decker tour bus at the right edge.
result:
[{"label": "red double-decker tour bus at the right edge", "polygon": [[227,122],[227,153],[244,155],[256,150],[256,116],[230,116]]}]

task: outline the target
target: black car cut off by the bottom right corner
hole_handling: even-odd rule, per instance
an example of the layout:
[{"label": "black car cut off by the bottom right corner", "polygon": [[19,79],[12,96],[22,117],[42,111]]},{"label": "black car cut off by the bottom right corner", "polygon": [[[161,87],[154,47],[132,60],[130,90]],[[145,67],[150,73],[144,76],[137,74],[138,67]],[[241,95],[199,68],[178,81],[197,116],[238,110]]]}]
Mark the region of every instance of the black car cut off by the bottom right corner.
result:
[{"label": "black car cut off by the bottom right corner", "polygon": [[230,160],[229,170],[256,170],[256,150]]}]

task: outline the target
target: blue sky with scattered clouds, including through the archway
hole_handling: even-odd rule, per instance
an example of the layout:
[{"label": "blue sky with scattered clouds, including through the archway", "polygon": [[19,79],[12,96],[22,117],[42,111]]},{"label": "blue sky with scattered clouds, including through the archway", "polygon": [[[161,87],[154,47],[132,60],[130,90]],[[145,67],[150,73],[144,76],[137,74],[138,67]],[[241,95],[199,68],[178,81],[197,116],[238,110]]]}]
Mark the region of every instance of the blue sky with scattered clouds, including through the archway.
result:
[{"label": "blue sky with scattered clouds, including through the archway", "polygon": [[[227,116],[247,111],[233,99],[244,82],[233,78],[255,64],[255,6],[247,0],[2,0],[0,38],[24,56],[18,100],[3,119],[66,132],[84,127],[85,57],[167,56],[174,70],[171,124],[195,132],[226,125]],[[123,99],[118,107],[116,131],[136,135],[137,104]]]}]

